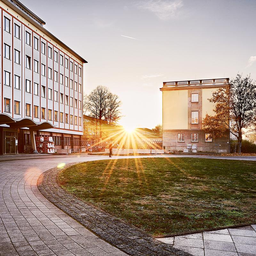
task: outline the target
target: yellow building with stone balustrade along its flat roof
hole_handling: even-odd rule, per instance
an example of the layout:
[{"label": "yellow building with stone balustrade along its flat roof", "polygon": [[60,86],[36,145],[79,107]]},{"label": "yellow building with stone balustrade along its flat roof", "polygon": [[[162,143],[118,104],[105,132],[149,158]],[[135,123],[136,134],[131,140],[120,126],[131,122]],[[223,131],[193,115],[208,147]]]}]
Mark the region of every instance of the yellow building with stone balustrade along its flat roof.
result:
[{"label": "yellow building with stone balustrade along its flat roof", "polygon": [[227,137],[218,140],[202,131],[206,113],[215,115],[208,99],[212,92],[225,86],[229,78],[164,82],[163,147],[165,151],[183,151],[194,144],[197,151],[228,152]]}]

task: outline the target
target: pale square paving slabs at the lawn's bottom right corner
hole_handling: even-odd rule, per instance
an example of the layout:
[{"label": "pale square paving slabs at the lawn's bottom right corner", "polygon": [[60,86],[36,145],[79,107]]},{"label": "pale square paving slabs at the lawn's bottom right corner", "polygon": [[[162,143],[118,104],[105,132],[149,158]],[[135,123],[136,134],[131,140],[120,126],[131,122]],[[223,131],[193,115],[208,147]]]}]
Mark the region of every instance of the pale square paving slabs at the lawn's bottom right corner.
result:
[{"label": "pale square paving slabs at the lawn's bottom right corner", "polygon": [[256,225],[157,238],[195,256],[256,256]]}]

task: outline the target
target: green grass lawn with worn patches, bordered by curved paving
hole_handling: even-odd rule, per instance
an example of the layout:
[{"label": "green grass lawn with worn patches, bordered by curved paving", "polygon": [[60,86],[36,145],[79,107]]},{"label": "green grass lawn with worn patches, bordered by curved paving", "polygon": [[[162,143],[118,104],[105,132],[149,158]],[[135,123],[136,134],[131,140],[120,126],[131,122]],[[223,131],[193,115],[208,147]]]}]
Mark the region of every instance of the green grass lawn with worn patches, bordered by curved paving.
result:
[{"label": "green grass lawn with worn patches, bordered by curved paving", "polygon": [[60,185],[151,235],[256,222],[256,162],[203,158],[100,160]]}]

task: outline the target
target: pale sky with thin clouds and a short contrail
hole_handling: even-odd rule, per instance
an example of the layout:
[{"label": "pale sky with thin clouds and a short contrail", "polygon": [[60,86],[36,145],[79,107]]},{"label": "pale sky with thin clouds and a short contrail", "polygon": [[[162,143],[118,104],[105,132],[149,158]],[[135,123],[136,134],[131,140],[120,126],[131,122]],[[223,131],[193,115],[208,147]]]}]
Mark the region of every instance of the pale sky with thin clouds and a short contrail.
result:
[{"label": "pale sky with thin clouds and a short contrail", "polygon": [[256,79],[256,0],[20,0],[88,61],[84,92],[104,85],[124,127],[162,123],[163,82]]}]

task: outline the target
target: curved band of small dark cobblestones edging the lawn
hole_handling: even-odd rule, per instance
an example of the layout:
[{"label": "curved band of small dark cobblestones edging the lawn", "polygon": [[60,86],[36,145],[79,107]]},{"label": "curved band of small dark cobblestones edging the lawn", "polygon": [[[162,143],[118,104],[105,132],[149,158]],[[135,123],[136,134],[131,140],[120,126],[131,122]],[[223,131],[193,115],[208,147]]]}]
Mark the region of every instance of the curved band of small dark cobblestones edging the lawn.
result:
[{"label": "curved band of small dark cobblestones edging the lawn", "polygon": [[[68,164],[66,168],[73,164]],[[42,173],[37,180],[39,191],[101,239],[132,256],[191,256],[69,194],[58,184],[60,172],[60,169],[53,168]]]}]

